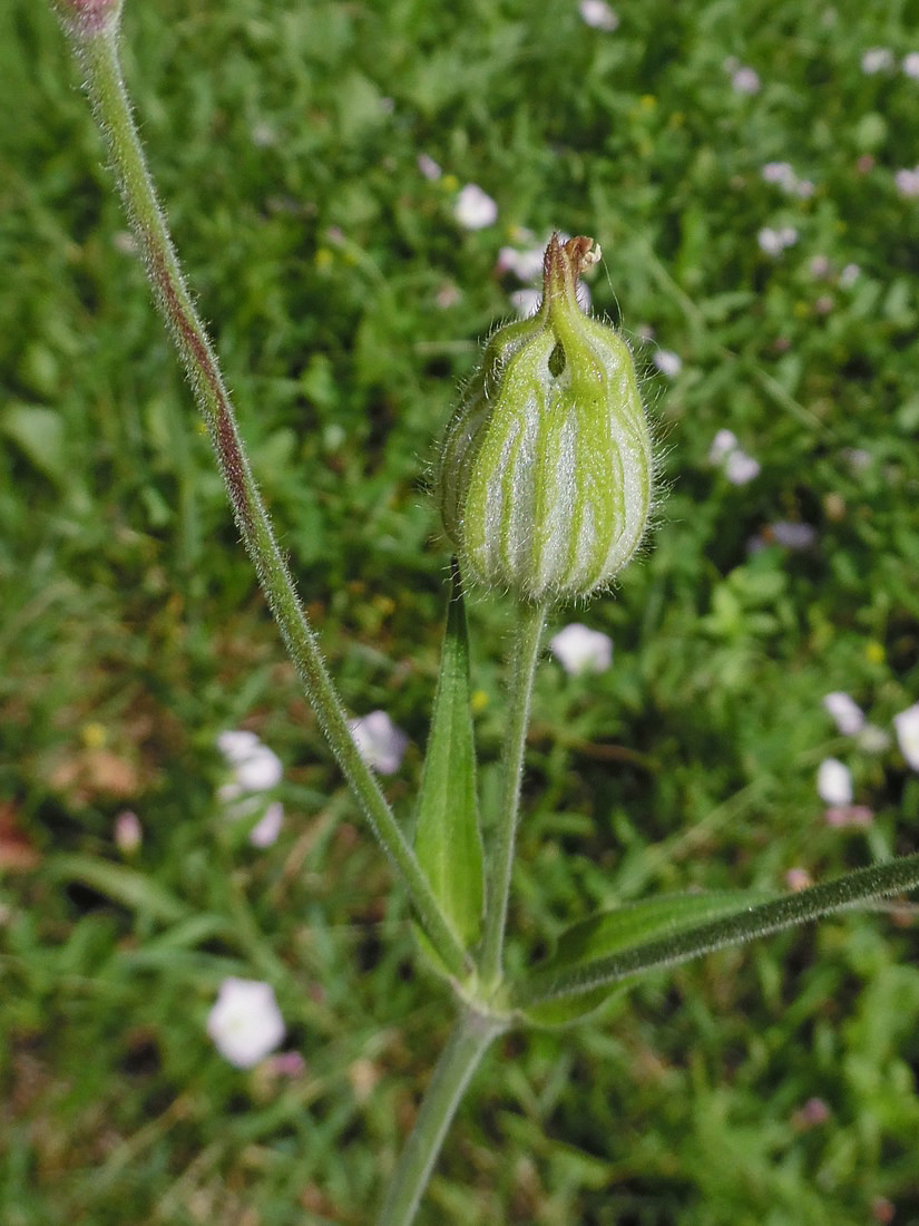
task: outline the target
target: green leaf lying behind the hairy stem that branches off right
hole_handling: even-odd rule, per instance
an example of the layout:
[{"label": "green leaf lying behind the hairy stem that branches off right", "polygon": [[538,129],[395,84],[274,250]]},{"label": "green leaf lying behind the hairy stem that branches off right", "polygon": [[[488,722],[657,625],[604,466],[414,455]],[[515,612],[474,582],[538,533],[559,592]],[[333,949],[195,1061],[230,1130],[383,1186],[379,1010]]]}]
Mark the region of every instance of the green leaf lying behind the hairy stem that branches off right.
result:
[{"label": "green leaf lying behind the hairy stem that branches off right", "polygon": [[[555,976],[575,969],[584,969],[589,973],[591,964],[602,958],[673,935],[691,924],[749,910],[762,901],[765,896],[761,894],[741,891],[668,894],[603,911],[565,929],[555,953],[535,967],[534,977],[540,983],[549,983]],[[619,991],[621,988],[602,983],[576,996],[531,1005],[522,1013],[527,1021],[537,1026],[566,1026],[594,1013]]]}]

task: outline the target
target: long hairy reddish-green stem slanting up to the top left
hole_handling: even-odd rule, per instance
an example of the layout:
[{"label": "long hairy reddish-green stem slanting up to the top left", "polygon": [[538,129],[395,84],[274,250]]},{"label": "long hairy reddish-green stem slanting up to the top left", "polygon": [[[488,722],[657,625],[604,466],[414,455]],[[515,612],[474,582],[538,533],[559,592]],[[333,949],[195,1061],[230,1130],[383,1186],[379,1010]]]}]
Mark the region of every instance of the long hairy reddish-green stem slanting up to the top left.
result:
[{"label": "long hairy reddish-green stem slanting up to the top left", "polygon": [[271,612],[332,753],[374,834],[406,881],[422,927],[450,971],[462,976],[471,969],[469,959],[444,916],[376,776],[358,753],[344,707],[278,548],[239,436],[217,356],[192,304],[147,170],[121,75],[116,31],[109,27],[80,34],[71,28],[69,33],[86,71],[86,88],[141,244],[157,306],[207,423],[236,525]]}]

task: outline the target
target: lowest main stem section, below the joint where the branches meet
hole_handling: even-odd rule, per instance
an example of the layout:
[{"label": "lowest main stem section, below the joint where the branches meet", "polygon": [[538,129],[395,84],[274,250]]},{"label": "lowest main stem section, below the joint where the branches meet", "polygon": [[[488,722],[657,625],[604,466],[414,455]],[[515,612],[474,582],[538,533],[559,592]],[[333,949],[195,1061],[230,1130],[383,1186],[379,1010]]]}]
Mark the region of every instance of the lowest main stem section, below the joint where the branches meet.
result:
[{"label": "lowest main stem section, below the joint where the branches meet", "polygon": [[377,1217],[377,1226],[408,1226],[414,1220],[450,1122],[469,1078],[506,1022],[472,1010],[461,1014],[428,1086],[412,1135]]}]

